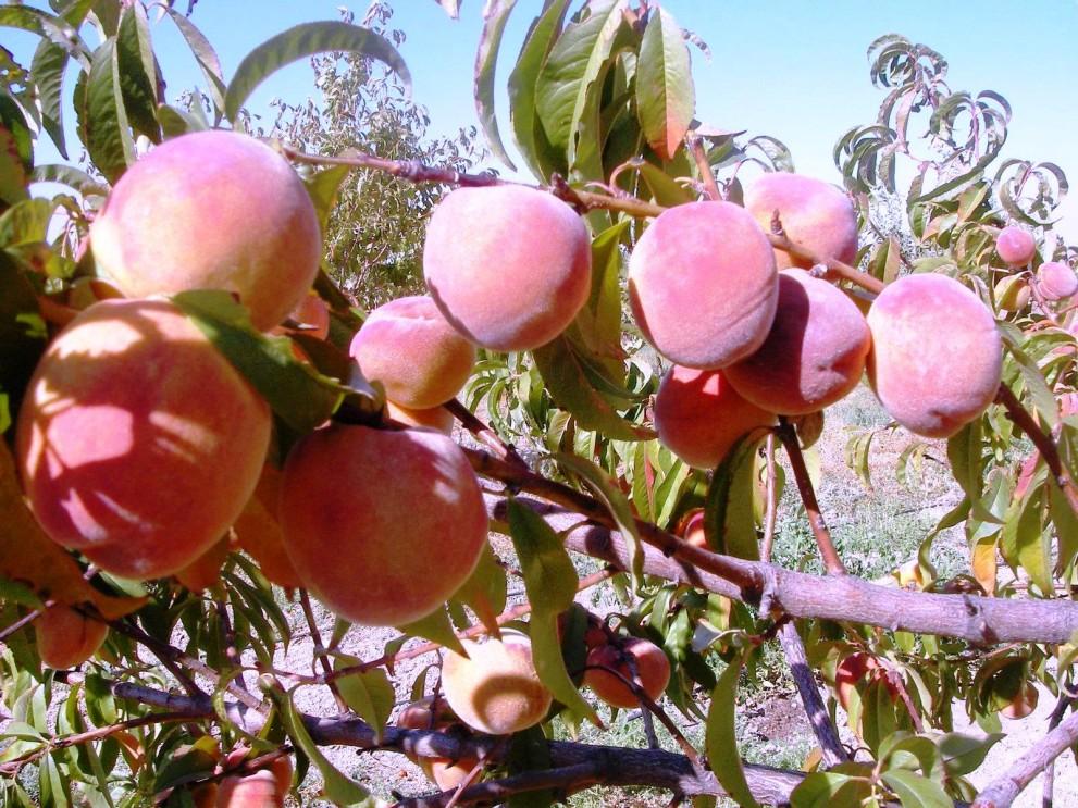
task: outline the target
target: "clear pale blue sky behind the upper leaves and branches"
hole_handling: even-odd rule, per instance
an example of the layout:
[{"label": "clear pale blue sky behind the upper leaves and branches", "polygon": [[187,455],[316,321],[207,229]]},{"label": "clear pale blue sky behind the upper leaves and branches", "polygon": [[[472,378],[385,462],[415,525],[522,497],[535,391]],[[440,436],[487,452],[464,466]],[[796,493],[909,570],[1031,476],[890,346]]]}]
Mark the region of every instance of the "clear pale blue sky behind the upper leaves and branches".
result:
[{"label": "clear pale blue sky behind the upper leaves and branches", "polygon": [[[38,3],[33,3],[38,4]],[[219,51],[226,77],[256,45],[298,22],[337,18],[342,2],[326,0],[200,0],[193,21]],[[362,17],[365,2],[344,3]],[[481,0],[462,0],[454,22],[433,0],[394,0],[393,25],[408,40],[401,53],[414,97],[431,112],[434,132],[476,123],[471,97]],[[177,0],[185,9],[186,0]],[[1014,110],[1005,156],[1058,163],[1076,185],[1065,227],[1078,240],[1078,0],[666,0],[683,27],[710,47],[708,61],[693,49],[697,117],[726,129],[783,140],[797,170],[838,182],[831,160],[837,138],[870,122],[882,92],[868,77],[866,49],[876,37],[900,33],[946,57],[954,90],[992,89]],[[499,117],[505,77],[538,0],[520,0],[506,33],[498,71]],[[30,37],[8,29],[0,40],[25,55]],[[200,83],[194,61],[168,21],[154,38],[170,96]],[[251,99],[265,109],[280,96],[312,95],[311,72],[297,64],[267,82]],[[44,156],[44,154],[42,154]]]}]

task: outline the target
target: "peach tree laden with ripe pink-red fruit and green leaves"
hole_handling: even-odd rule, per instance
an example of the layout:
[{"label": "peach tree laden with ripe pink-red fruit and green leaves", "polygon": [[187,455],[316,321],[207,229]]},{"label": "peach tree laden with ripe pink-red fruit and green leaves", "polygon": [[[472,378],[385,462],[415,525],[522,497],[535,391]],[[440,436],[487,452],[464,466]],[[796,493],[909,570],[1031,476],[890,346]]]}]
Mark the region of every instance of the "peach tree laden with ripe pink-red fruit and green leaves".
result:
[{"label": "peach tree laden with ripe pink-red fruit and green leaves", "polygon": [[[408,69],[331,21],[225,76],[187,12],[0,8],[38,37],[27,64],[0,49],[5,805],[387,799],[343,746],[418,761],[434,785],[406,806],[1003,808],[1075,746],[1078,278],[1062,171],[1000,158],[1005,99],[878,39],[884,100],[839,139],[839,188],[695,119],[694,37],[659,3],[550,0],[508,75],[532,178],[507,179],[252,137],[245,103],[285,64]],[[473,77],[510,169],[515,12],[486,4]],[[205,103],[166,96],[151,17]],[[78,153],[72,114],[82,167],[44,164],[45,139]],[[369,172],[439,201],[428,294],[368,312],[322,234]],[[903,480],[945,456],[962,494],[891,585],[847,570],[816,495],[823,413],[865,382],[889,421],[851,467],[870,484],[889,434]],[[933,565],[945,531],[957,574]],[[591,613],[593,587],[619,606]],[[354,625],[396,631],[363,659]],[[775,659],[816,741],[800,770],[738,750],[739,688]],[[975,788],[1042,692],[1046,734]],[[603,736],[618,710],[644,745]]]}]

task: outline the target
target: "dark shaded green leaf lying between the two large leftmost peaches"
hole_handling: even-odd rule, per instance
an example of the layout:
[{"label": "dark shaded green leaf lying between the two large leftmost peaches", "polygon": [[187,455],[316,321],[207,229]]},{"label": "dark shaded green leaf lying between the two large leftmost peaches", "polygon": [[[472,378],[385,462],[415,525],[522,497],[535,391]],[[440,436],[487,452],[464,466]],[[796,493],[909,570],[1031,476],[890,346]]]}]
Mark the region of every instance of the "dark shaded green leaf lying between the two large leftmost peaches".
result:
[{"label": "dark shaded green leaf lying between the two large leftmost peaches", "polygon": [[184,291],[172,300],[294,430],[306,434],[336,410],[345,389],[296,359],[287,338],[255,331],[228,293]]}]

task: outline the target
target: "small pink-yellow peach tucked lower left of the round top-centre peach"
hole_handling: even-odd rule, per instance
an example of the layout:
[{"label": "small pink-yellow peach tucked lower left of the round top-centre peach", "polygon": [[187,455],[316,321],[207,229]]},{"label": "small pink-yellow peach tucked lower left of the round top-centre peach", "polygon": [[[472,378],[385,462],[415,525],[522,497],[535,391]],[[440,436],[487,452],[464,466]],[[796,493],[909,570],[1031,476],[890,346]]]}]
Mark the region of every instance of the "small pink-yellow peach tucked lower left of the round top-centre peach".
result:
[{"label": "small pink-yellow peach tucked lower left of the round top-centre peach", "polygon": [[429,297],[402,297],[371,312],[348,349],[385,397],[412,410],[445,403],[475,364],[475,347],[442,316]]}]

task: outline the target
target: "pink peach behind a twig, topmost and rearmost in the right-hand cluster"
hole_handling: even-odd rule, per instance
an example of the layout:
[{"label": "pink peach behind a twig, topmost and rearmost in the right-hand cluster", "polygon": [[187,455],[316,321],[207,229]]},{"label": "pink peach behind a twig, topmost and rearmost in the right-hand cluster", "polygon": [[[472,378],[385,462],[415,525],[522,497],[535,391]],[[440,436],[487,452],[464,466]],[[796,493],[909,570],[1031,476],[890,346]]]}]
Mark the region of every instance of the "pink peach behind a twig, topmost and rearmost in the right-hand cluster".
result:
[{"label": "pink peach behind a twig, topmost and rearmost in the right-hand cluster", "polygon": [[[857,259],[857,213],[838,186],[788,172],[765,174],[745,189],[745,209],[767,232],[778,211],[790,240],[821,262],[838,259],[852,264]],[[780,270],[813,265],[785,250],[777,249],[775,260]]]}]

